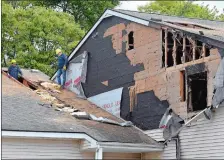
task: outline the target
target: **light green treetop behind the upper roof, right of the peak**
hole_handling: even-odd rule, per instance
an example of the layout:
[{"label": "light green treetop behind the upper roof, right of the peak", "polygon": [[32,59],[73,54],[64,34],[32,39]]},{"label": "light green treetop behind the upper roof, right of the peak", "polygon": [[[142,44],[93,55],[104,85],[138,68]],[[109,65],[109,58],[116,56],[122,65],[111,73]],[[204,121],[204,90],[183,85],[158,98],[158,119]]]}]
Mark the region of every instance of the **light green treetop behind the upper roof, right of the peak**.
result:
[{"label": "light green treetop behind the upper roof, right of the peak", "polygon": [[160,1],[148,3],[144,6],[139,6],[141,12],[153,12],[174,16],[183,16],[189,18],[201,19],[219,19],[217,16],[218,10],[216,7],[209,9],[209,5],[200,6],[192,1]]}]

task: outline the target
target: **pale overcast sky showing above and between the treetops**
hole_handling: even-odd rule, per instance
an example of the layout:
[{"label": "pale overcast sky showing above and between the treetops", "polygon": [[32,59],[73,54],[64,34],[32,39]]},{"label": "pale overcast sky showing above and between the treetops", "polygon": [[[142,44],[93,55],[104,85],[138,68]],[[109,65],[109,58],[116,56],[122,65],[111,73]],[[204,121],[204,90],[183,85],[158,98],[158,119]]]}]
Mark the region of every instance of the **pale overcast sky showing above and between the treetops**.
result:
[{"label": "pale overcast sky showing above and between the treetops", "polygon": [[[139,5],[145,5],[148,2],[149,1],[121,1],[120,6],[118,6],[116,8],[137,11],[137,7]],[[214,6],[216,6],[216,8],[219,10],[219,12],[222,12],[223,8],[224,8],[224,1],[197,1],[194,3],[197,3],[197,4],[204,3],[204,5],[209,4],[210,8],[213,8]]]}]

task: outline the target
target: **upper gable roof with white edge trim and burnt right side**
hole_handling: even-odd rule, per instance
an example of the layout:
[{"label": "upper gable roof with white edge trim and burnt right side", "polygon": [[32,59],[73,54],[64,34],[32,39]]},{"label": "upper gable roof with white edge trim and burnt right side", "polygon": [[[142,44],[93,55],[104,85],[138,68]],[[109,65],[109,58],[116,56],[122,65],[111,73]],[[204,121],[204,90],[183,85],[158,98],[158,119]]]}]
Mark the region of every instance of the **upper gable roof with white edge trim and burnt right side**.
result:
[{"label": "upper gable roof with white edge trim and burnt right side", "polygon": [[[176,30],[183,31],[188,33],[189,35],[197,37],[199,40],[205,43],[209,43],[210,45],[214,45],[219,48],[224,48],[224,22],[223,21],[211,21],[211,20],[202,20],[195,18],[184,18],[184,17],[175,17],[175,16],[167,16],[160,14],[152,14],[152,13],[142,13],[136,11],[127,11],[120,9],[107,9],[102,14],[102,16],[98,19],[98,21],[94,24],[94,26],[86,33],[83,39],[78,43],[78,45],[74,48],[74,50],[70,53],[68,60],[70,61],[76,52],[80,49],[80,47],[85,43],[88,37],[94,32],[96,27],[101,23],[104,18],[116,16],[123,19],[130,20],[132,22],[136,22],[145,26],[162,28],[162,27],[171,27]],[[155,20],[157,19],[157,20]],[[158,21],[158,19],[160,19]],[[201,27],[205,27],[208,29],[200,29],[203,31],[204,35],[199,33],[199,29],[188,28],[184,26],[178,26],[172,24],[176,23],[185,23],[185,24],[195,24]],[[211,32],[212,30],[212,32]],[[53,80],[56,76],[54,74],[51,79]]]}]

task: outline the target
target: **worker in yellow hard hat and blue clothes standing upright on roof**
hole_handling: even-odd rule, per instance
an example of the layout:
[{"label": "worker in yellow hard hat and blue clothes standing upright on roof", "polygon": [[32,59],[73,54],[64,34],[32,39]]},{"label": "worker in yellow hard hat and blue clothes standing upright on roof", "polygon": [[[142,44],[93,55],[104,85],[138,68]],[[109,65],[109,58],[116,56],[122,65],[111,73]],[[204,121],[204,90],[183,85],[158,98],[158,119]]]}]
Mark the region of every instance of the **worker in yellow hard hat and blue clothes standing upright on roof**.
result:
[{"label": "worker in yellow hard hat and blue clothes standing upright on roof", "polygon": [[[56,54],[58,55],[57,80],[58,84],[61,85],[61,88],[64,88],[68,58],[66,54],[62,53],[60,49],[56,49]],[[62,75],[62,83],[61,83],[61,75]]]}]

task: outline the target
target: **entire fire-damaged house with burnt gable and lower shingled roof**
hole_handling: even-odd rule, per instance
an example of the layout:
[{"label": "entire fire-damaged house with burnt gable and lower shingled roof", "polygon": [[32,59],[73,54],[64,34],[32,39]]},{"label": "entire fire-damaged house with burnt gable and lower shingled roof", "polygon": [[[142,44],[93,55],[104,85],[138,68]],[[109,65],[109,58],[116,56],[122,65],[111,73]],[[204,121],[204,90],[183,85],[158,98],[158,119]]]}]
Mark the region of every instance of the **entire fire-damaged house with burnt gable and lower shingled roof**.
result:
[{"label": "entire fire-damaged house with burnt gable and lower shingled roof", "polygon": [[[47,143],[57,158],[224,158],[223,27],[221,21],[106,10],[68,58],[67,90],[26,74],[21,88],[4,70],[3,155],[29,155],[45,137],[38,143],[47,149],[32,150],[34,158],[55,158]],[[18,101],[13,95],[25,86],[35,96]],[[23,107],[29,101],[32,106]],[[21,142],[15,130],[28,140]],[[14,143],[34,148],[19,152]]]}]

